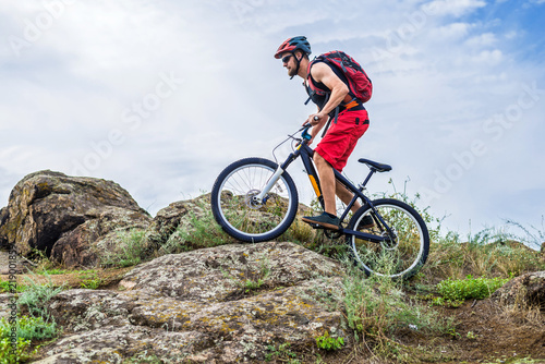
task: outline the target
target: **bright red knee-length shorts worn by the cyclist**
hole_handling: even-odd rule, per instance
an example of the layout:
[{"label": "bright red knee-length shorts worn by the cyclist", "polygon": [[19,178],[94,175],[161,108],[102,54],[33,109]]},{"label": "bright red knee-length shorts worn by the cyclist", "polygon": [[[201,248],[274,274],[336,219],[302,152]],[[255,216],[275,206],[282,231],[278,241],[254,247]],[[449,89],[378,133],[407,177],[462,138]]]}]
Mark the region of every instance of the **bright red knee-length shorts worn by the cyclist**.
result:
[{"label": "bright red knee-length shorts worn by the cyclist", "polygon": [[344,110],[339,113],[337,123],[331,120],[326,135],[314,150],[327,160],[332,168],[342,172],[358,139],[362,137],[368,126],[367,110]]}]

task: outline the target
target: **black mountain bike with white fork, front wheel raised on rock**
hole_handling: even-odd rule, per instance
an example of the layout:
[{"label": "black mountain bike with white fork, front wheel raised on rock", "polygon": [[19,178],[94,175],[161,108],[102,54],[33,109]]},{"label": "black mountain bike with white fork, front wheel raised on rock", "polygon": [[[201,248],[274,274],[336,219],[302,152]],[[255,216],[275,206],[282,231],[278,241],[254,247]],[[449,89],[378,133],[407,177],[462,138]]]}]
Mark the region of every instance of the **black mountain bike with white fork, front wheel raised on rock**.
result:
[{"label": "black mountain bike with white fork, front wheel raised on rock", "polygon": [[[231,163],[218,175],[211,191],[211,210],[229,235],[256,243],[274,240],[288,230],[298,211],[304,210],[304,206],[299,205],[295,184],[287,172],[298,158],[303,161],[324,208],[319,178],[312,161],[314,150],[308,146],[310,128],[310,124],[303,126],[282,142],[291,139],[293,151],[281,165],[264,158],[245,158]],[[301,136],[295,137],[300,132]],[[363,192],[373,174],[388,172],[391,167],[363,158],[359,162],[370,168],[359,186],[334,169],[337,183],[342,183],[354,196],[340,216],[339,230],[325,230],[325,233],[332,239],[344,236],[351,258],[366,275],[408,279],[427,259],[427,227],[419,213],[402,201],[368,198]],[[362,207],[351,214],[358,199]]]}]

